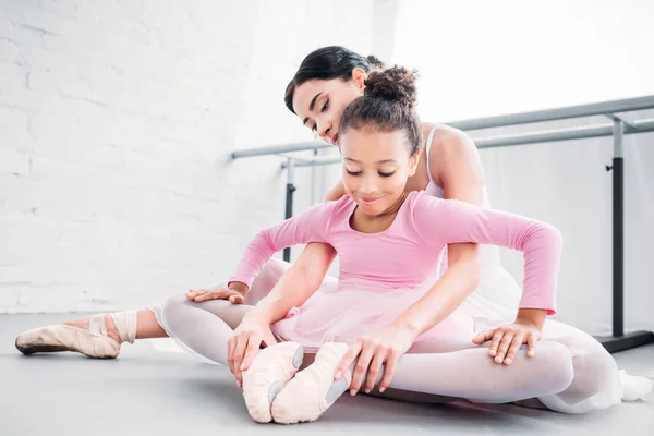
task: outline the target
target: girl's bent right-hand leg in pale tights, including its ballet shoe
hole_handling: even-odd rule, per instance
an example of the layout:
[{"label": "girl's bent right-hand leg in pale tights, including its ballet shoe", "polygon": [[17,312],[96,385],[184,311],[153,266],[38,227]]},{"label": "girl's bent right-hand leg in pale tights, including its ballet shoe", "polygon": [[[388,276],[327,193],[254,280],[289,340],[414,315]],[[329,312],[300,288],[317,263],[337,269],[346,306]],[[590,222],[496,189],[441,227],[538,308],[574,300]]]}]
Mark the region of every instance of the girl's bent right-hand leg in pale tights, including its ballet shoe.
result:
[{"label": "girl's bent right-hand leg in pale tights, including its ballet shoe", "polygon": [[[495,363],[487,348],[475,347],[441,352],[443,343],[422,343],[432,352],[407,353],[396,365],[390,388],[403,393],[464,398],[476,402],[505,403],[565,390],[572,382],[572,358],[568,349],[557,342],[541,341],[534,358],[526,356],[525,348],[510,366]],[[446,344],[446,348],[451,343]],[[351,373],[334,380],[338,362],[347,352],[343,343],[328,343],[320,348],[314,364],[299,372],[272,404],[275,421],[295,423],[316,420],[349,388]],[[375,385],[382,379],[379,374]],[[365,385],[361,386],[363,391]],[[386,392],[385,392],[386,393]],[[387,395],[382,395],[387,397]],[[411,397],[404,395],[404,400]]]}]

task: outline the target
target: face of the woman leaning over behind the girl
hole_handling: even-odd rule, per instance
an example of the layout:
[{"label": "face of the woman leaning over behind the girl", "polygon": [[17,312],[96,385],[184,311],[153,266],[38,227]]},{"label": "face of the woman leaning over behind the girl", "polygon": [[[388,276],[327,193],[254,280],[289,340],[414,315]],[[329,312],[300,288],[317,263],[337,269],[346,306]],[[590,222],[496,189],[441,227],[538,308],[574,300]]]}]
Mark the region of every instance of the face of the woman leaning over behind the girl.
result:
[{"label": "face of the woman leaning over behind the girl", "polygon": [[363,94],[366,74],[361,69],[352,71],[352,78],[312,80],[295,86],[293,110],[302,123],[318,136],[338,145],[340,117],[356,97]]}]

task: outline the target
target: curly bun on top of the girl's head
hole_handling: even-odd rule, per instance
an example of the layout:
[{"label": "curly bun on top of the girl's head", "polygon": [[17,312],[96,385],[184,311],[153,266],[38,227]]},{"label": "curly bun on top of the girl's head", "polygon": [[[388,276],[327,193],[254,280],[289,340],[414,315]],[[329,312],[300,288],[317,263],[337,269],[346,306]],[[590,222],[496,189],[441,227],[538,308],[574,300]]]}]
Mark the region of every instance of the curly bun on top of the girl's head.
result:
[{"label": "curly bun on top of the girl's head", "polygon": [[403,66],[374,71],[365,81],[364,94],[413,108],[417,104],[416,73]]}]

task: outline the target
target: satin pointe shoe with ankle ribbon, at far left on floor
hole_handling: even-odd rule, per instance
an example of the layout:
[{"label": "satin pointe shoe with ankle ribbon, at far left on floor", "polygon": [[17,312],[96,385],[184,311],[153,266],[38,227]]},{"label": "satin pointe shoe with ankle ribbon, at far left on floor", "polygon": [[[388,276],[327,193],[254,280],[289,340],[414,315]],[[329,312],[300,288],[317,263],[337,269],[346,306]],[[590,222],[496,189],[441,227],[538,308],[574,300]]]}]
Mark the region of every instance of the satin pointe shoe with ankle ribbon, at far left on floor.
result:
[{"label": "satin pointe shoe with ankle ribbon, at far left on floor", "polygon": [[92,316],[88,330],[65,324],[55,324],[25,331],[16,337],[16,349],[23,354],[76,351],[89,358],[117,358],[120,354],[121,342],[133,343],[136,338],[136,312],[110,314],[121,342],[107,336],[105,316],[106,314]]}]

